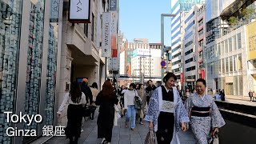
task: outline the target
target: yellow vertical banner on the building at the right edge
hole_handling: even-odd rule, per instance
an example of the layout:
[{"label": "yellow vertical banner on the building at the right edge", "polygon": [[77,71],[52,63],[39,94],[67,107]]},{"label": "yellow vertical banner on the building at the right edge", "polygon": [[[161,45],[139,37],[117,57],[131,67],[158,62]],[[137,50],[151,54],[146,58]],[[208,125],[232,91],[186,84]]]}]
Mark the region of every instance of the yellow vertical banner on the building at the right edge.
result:
[{"label": "yellow vertical banner on the building at the right edge", "polygon": [[248,60],[256,59],[256,22],[246,26]]}]

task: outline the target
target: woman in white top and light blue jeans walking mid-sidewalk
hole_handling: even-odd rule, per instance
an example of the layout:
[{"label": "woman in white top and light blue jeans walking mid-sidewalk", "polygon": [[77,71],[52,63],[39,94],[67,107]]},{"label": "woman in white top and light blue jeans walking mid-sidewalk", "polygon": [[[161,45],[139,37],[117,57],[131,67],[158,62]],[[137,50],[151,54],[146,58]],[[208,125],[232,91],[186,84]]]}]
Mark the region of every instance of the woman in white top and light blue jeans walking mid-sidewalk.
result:
[{"label": "woman in white top and light blue jeans walking mid-sidewalk", "polygon": [[122,94],[124,94],[124,109],[126,110],[126,128],[128,128],[128,123],[130,122],[130,130],[134,130],[135,128],[136,109],[134,106],[134,97],[138,96],[135,88],[136,85],[131,83],[129,90],[122,90]]}]

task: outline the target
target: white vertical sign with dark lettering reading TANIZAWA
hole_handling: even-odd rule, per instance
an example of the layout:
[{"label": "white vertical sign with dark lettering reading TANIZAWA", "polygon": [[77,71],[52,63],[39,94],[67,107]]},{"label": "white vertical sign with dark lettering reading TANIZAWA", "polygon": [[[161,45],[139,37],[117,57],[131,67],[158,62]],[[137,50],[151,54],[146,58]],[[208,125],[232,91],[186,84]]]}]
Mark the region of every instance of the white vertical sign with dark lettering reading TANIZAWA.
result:
[{"label": "white vertical sign with dark lettering reading TANIZAWA", "polygon": [[111,13],[102,14],[102,57],[111,54]]}]

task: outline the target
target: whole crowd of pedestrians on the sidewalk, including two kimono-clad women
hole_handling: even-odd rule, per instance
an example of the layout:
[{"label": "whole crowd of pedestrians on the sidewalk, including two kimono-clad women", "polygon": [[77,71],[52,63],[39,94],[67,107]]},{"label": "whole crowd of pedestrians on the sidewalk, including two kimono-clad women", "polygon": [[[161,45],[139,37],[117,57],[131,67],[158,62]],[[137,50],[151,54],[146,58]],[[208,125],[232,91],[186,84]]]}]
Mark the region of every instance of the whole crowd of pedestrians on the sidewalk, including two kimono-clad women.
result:
[{"label": "whole crowd of pedestrians on the sidewalk, including two kimono-clad women", "polygon": [[[112,129],[119,117],[125,117],[125,127],[130,130],[136,129],[136,122],[140,125],[148,122],[158,144],[180,143],[178,132],[189,127],[199,144],[208,143],[209,137],[218,135],[219,128],[225,122],[214,98],[209,92],[206,93],[206,81],[199,78],[191,93],[190,89],[183,91],[175,86],[176,80],[173,73],[167,73],[159,86],[154,86],[149,80],[147,86],[130,83],[129,87],[121,86],[118,90],[106,81],[101,91],[98,91],[96,82],[88,86],[86,78],[82,84],[73,82],[58,109],[58,117],[61,117],[68,104],[66,138],[70,139],[70,143],[78,143],[86,110],[84,107],[90,106],[90,119],[94,119],[94,111],[98,110],[98,138],[102,138],[102,143],[111,142]],[[121,114],[119,117],[118,111]]]}]

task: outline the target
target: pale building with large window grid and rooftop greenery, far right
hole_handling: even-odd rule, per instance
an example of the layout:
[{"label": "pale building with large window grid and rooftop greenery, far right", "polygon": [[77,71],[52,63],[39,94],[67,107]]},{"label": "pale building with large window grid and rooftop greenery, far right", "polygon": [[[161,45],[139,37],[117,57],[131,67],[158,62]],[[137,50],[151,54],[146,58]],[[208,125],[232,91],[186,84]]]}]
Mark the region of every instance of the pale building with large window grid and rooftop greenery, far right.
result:
[{"label": "pale building with large window grid and rooftop greenery, far right", "polygon": [[[217,7],[207,9],[214,2]],[[255,1],[206,2],[208,88],[225,90],[228,98],[247,98],[249,90],[256,90],[255,15],[243,12],[255,10],[255,5]],[[215,10],[219,15],[211,15]]]}]

